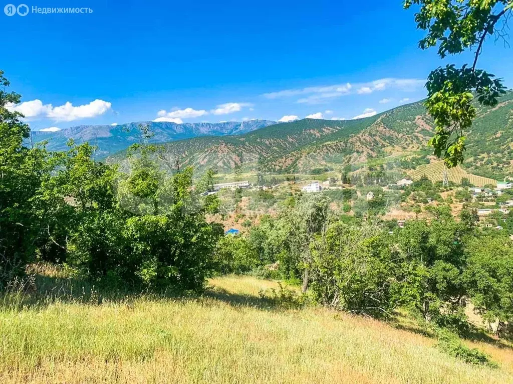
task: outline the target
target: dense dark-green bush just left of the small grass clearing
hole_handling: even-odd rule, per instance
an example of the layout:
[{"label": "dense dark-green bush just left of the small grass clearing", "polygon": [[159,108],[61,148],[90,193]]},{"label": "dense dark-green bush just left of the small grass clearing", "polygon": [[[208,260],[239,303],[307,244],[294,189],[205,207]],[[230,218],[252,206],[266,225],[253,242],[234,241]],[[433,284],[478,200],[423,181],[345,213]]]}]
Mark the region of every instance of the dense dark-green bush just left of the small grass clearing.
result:
[{"label": "dense dark-green bush just left of the small grass clearing", "polygon": [[175,214],[130,218],[123,234],[144,286],[182,292],[204,287],[221,231],[194,215]]}]

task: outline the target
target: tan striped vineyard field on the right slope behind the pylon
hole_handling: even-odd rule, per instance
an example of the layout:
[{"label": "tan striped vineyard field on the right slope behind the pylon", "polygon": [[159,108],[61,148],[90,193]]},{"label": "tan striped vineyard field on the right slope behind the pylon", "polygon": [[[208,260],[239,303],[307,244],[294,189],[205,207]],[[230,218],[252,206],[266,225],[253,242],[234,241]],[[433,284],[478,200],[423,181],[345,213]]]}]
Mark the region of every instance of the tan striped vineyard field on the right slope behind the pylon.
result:
[{"label": "tan striped vineyard field on the right slope behind the pylon", "polygon": [[[408,175],[412,178],[413,181],[419,180],[422,176],[426,175],[429,180],[435,183],[437,181],[443,180],[443,172],[444,162],[438,161],[436,163],[419,165],[416,169],[411,170]],[[460,166],[447,169],[447,178],[453,183],[461,184],[461,179],[464,177],[466,177],[470,183],[476,186],[497,186],[497,180],[472,175]]]}]

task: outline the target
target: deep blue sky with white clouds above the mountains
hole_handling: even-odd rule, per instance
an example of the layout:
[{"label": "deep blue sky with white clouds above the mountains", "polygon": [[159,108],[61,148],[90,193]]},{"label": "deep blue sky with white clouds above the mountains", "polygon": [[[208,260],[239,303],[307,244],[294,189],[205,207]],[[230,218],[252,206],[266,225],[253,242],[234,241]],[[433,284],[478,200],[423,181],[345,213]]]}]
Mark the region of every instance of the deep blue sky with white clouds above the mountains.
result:
[{"label": "deep blue sky with white clouds above the mountains", "polygon": [[[93,10],[0,14],[0,68],[33,129],[350,119],[423,98],[431,69],[470,57],[420,51],[423,33],[400,0],[26,4]],[[512,87],[511,62],[490,39],[479,66]]]}]

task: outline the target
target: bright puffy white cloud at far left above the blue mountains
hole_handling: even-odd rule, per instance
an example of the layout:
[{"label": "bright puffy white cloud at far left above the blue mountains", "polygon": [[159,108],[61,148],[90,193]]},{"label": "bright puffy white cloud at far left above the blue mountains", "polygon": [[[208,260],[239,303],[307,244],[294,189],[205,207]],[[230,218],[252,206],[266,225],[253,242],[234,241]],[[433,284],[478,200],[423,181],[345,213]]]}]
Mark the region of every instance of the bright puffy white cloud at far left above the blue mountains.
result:
[{"label": "bright puffy white cloud at far left above the blue mountains", "polygon": [[10,111],[22,113],[27,119],[49,118],[55,121],[73,121],[103,115],[110,110],[111,103],[96,99],[89,104],[73,106],[67,101],[60,106],[43,104],[39,99],[24,101],[18,105],[8,105]]}]

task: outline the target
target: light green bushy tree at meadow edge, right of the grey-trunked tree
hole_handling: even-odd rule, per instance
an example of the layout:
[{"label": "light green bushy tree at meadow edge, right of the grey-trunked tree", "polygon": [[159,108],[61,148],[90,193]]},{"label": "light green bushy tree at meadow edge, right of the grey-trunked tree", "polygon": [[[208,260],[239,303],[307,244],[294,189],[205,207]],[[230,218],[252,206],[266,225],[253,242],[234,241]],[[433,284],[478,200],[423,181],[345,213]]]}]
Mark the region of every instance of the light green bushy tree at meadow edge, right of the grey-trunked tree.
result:
[{"label": "light green bushy tree at meadow edge, right of the grey-trunked tree", "polygon": [[374,225],[329,225],[312,244],[311,289],[318,301],[351,313],[389,316],[397,251]]}]

